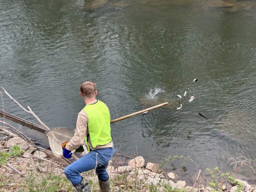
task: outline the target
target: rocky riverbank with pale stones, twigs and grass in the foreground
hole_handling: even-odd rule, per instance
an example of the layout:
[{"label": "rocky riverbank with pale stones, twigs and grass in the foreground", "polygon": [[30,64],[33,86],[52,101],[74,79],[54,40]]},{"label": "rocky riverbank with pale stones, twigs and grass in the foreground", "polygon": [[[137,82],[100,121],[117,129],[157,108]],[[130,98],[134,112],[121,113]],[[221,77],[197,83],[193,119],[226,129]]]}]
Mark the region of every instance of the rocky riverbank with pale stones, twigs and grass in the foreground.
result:
[{"label": "rocky riverbank with pale stones, twigs and grass in the foreground", "polygon": [[[66,161],[53,159],[16,136],[8,140],[2,139],[0,151],[0,191],[74,191],[64,175],[64,168],[68,165]],[[176,173],[166,173],[161,169],[161,165],[146,163],[141,156],[130,159],[126,165],[118,166],[116,157],[113,157],[107,171],[111,178],[112,191],[256,192],[256,186],[246,181],[226,175],[226,177],[222,176],[219,182],[216,179],[217,175],[215,178],[213,173],[212,178],[208,178],[209,182],[202,186],[201,171],[197,173],[198,177],[194,185],[187,185],[186,181],[180,180]],[[218,173],[218,170],[216,171]],[[89,182],[92,191],[99,190],[94,170],[82,175]]]}]

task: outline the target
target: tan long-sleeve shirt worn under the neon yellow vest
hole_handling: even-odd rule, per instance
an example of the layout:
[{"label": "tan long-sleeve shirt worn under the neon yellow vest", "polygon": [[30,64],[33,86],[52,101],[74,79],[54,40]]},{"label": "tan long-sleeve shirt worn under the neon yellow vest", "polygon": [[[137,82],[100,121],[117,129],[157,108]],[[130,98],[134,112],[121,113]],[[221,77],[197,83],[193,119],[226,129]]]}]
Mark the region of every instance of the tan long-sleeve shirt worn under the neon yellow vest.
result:
[{"label": "tan long-sleeve shirt worn under the neon yellow vest", "polygon": [[[97,100],[95,100],[87,105],[94,104],[96,102],[97,102]],[[73,151],[73,150],[77,149],[78,147],[80,147],[81,145],[85,144],[85,138],[88,135],[88,133],[89,133],[89,131],[88,131],[88,116],[86,115],[84,110],[81,110],[77,116],[75,134],[70,139],[68,144],[66,145],[66,149]],[[110,143],[108,143],[106,145],[97,145],[95,148],[93,148],[91,140],[90,140],[90,135],[88,136],[87,139],[88,139],[89,147],[91,150],[113,147],[113,142],[111,141]]]}]

